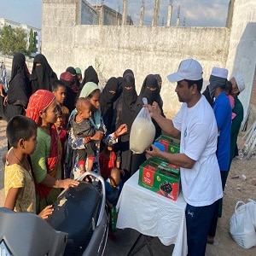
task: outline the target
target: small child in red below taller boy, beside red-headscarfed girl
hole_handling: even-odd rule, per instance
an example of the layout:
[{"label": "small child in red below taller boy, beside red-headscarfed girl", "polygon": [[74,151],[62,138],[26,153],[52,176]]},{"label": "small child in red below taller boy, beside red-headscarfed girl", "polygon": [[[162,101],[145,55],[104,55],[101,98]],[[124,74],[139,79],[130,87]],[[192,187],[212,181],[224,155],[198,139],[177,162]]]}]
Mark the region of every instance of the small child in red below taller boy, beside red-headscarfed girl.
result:
[{"label": "small child in red below taller boy, beside red-headscarfed girl", "polygon": [[63,179],[64,178],[64,159],[65,159],[65,154],[67,149],[67,131],[62,127],[63,113],[61,111],[61,106],[57,105],[56,108],[57,108],[57,120],[55,122],[55,128],[61,141],[61,149],[62,149],[61,178]]}]

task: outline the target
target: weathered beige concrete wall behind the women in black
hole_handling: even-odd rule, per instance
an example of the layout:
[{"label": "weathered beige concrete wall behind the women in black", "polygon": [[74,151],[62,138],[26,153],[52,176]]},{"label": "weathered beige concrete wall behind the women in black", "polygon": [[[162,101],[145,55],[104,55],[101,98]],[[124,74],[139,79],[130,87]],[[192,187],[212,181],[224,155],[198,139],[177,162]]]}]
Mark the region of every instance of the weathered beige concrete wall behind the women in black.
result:
[{"label": "weathered beige concrete wall behind the women in black", "polygon": [[85,26],[77,20],[79,0],[44,0],[42,52],[60,75],[68,66],[96,67],[102,80],[131,68],[139,93],[148,73],[163,78],[161,95],[166,113],[177,113],[176,84],[166,76],[185,58],[195,58],[204,79],[213,66],[225,67],[230,29],[216,27]]}]

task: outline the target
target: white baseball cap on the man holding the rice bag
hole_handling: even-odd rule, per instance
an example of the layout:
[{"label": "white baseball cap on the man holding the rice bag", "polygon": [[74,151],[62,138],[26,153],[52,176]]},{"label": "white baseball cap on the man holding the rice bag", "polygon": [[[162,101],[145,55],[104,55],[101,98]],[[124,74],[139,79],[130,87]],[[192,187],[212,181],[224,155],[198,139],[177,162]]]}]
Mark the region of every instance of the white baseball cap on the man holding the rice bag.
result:
[{"label": "white baseball cap on the man holding the rice bag", "polygon": [[177,73],[167,76],[170,82],[178,82],[183,79],[197,81],[202,79],[202,67],[198,61],[187,59],[180,62]]}]

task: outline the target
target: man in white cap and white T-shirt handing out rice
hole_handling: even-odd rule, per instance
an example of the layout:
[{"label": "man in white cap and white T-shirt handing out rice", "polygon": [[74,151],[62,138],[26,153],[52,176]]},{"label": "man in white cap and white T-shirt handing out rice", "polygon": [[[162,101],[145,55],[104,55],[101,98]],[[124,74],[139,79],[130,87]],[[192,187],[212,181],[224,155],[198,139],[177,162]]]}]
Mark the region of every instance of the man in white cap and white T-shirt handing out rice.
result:
[{"label": "man in white cap and white T-shirt handing out rice", "polygon": [[181,61],[177,73],[167,77],[177,82],[176,93],[183,102],[174,119],[161,116],[160,108],[147,105],[162,131],[181,137],[180,153],[161,152],[152,145],[149,156],[160,157],[180,166],[183,197],[187,202],[188,255],[205,255],[212,214],[223,191],[216,157],[218,129],[214,113],[201,95],[202,67],[198,61]]}]

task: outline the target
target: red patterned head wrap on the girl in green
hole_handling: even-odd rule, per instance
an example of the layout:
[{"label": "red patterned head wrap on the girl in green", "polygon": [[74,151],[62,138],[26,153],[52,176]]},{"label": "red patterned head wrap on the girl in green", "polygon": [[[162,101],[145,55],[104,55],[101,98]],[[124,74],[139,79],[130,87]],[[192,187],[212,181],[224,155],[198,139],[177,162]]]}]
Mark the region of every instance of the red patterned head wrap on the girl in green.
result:
[{"label": "red patterned head wrap on the girl in green", "polygon": [[54,100],[55,96],[49,90],[37,90],[29,99],[26,117],[33,119],[37,125],[41,125],[39,112],[44,111]]}]

